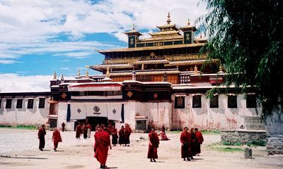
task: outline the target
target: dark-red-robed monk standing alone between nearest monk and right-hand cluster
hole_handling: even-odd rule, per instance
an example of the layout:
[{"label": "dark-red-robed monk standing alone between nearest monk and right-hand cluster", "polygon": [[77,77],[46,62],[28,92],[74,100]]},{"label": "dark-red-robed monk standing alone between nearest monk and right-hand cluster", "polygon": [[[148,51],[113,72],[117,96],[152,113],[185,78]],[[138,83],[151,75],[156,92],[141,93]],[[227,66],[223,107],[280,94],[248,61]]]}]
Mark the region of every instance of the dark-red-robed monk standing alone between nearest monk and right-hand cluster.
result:
[{"label": "dark-red-robed monk standing alone between nearest monk and right-hand cluster", "polygon": [[150,158],[150,162],[156,162],[157,156],[157,148],[159,145],[158,134],[155,132],[154,128],[149,132],[149,151],[147,152],[147,158]]}]

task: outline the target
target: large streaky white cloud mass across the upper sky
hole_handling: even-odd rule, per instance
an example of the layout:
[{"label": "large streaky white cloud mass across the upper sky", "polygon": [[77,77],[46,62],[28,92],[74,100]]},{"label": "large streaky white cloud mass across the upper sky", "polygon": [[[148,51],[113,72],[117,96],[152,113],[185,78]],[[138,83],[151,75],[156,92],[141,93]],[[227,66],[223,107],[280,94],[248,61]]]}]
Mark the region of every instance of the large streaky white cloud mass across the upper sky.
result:
[{"label": "large streaky white cloud mass across the upper sky", "polygon": [[[127,42],[122,32],[154,29],[166,23],[168,11],[172,23],[185,25],[205,13],[204,5],[195,0],[105,0],[91,3],[86,0],[41,1],[2,0],[0,2],[0,64],[16,63],[24,54],[67,53],[84,57],[100,47],[114,48],[104,42],[83,42],[89,33],[107,32]],[[52,42],[67,35],[69,42]],[[81,56],[74,54],[81,52]],[[61,54],[61,53],[60,53]]]}]

